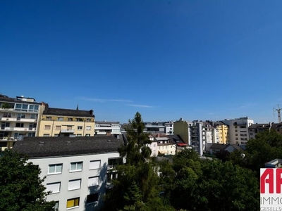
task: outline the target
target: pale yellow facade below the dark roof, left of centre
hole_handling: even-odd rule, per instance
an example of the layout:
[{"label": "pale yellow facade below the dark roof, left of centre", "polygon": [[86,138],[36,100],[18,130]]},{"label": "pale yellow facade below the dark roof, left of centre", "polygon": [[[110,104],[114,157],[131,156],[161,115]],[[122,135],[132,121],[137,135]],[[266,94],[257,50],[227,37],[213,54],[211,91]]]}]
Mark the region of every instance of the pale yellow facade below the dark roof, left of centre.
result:
[{"label": "pale yellow facade below the dark roof, left of centre", "polygon": [[[61,118],[61,119],[59,119]],[[81,121],[80,121],[81,120]],[[38,136],[94,136],[95,122],[92,117],[66,117],[42,115]]]}]

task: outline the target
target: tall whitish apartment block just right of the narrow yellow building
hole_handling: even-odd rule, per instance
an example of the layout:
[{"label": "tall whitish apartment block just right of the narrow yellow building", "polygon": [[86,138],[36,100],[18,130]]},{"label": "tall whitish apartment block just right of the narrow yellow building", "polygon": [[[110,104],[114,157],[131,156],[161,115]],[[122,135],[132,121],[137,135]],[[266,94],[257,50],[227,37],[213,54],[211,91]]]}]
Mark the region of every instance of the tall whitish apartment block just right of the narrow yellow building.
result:
[{"label": "tall whitish apartment block just right of the narrow yellow building", "polygon": [[221,122],[229,126],[229,142],[231,144],[246,144],[250,139],[248,128],[254,124],[254,120],[249,117],[240,117],[234,120],[221,120]]}]

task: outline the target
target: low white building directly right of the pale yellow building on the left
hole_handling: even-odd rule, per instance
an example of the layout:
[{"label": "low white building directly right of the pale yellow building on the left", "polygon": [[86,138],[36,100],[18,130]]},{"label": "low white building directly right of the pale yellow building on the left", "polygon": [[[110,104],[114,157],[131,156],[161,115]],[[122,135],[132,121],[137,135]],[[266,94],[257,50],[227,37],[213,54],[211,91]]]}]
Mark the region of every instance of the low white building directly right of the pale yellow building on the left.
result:
[{"label": "low white building directly right of the pale yellow building on the left", "polygon": [[96,121],[94,133],[97,135],[121,134],[119,122]]}]

